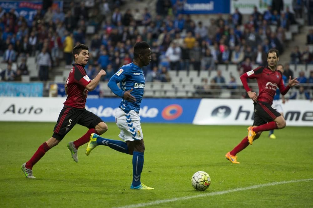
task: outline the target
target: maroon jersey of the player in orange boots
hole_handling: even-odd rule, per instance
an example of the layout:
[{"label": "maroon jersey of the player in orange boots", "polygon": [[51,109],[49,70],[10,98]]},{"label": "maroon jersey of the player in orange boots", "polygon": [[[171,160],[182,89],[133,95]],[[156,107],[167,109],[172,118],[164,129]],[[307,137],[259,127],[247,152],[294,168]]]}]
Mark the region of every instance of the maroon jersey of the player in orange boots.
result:
[{"label": "maroon jersey of the player in orange boots", "polygon": [[289,85],[284,86],[282,79],[282,73],[278,70],[272,71],[267,67],[260,66],[254,70],[248,71],[240,76],[241,82],[244,85],[246,91],[250,91],[247,83],[247,78],[256,79],[259,85],[258,101],[273,104],[274,95],[277,87],[280,89],[280,93],[285,95],[290,89]]}]

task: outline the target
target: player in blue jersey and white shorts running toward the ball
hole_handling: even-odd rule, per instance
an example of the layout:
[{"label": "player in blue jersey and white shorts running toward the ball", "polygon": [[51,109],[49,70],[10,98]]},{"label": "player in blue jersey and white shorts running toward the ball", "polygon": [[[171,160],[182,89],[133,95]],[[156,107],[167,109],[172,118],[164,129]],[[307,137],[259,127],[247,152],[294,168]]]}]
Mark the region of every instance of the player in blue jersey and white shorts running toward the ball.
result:
[{"label": "player in blue jersey and white shorts running toward the ball", "polygon": [[[150,61],[151,49],[149,44],[145,41],[137,42],[134,46],[133,62],[123,65],[111,77],[108,83],[112,92],[122,98],[119,108],[115,113],[115,122],[121,129],[119,137],[125,142],[102,138],[93,133],[86,148],[86,155],[89,155],[91,150],[98,145],[109,146],[119,152],[133,155],[133,181],[131,189],[154,189],[145,186],[140,181],[145,144],[143,142],[143,133],[138,113],[146,84],[142,67],[148,65]],[[117,86],[117,83],[120,83],[121,89]]]}]

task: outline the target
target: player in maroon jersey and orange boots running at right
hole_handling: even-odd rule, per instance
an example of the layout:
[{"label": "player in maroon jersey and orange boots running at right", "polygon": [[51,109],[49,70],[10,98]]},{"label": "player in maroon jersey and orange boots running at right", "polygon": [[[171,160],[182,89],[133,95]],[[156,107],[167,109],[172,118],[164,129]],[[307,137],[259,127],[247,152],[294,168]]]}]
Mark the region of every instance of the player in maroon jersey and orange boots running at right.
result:
[{"label": "player in maroon jersey and orange boots running at right", "polygon": [[[240,80],[246,89],[249,98],[254,104],[254,121],[253,126],[248,128],[248,136],[246,136],[232,151],[226,153],[226,158],[232,163],[240,163],[237,161],[236,154],[246,148],[249,144],[261,135],[263,131],[272,129],[285,128],[286,121],[284,117],[271,105],[277,87],[280,93],[285,95],[290,87],[298,85],[299,81],[291,79],[289,76],[288,85],[285,87],[282,79],[282,73],[276,70],[279,54],[276,49],[270,49],[267,52],[268,66],[260,66],[254,70],[248,71],[240,76]],[[247,79],[256,79],[259,85],[259,96],[249,89]]]}]

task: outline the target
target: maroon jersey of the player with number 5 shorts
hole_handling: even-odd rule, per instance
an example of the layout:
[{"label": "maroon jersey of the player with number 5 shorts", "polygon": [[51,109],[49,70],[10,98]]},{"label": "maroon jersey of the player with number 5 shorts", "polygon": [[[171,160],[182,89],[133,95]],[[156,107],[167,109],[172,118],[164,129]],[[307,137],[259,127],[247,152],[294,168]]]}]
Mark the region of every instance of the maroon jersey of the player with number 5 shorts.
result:
[{"label": "maroon jersey of the player with number 5 shorts", "polygon": [[69,78],[66,80],[67,99],[64,105],[78,109],[84,109],[88,90],[86,85],[90,83],[90,79],[84,69],[85,66],[73,64],[73,68],[69,72]]}]

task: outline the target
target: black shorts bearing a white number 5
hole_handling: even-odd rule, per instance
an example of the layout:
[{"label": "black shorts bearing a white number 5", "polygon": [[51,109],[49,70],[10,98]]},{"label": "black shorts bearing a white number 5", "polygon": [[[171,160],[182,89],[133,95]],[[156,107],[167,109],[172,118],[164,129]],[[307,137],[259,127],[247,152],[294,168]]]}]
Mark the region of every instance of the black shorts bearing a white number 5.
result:
[{"label": "black shorts bearing a white number 5", "polygon": [[52,137],[62,140],[76,123],[87,128],[95,128],[100,122],[103,121],[99,116],[86,109],[75,109],[64,105],[53,129]]}]

